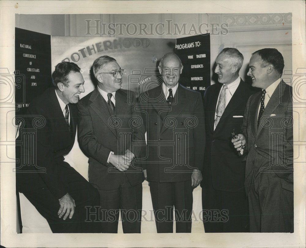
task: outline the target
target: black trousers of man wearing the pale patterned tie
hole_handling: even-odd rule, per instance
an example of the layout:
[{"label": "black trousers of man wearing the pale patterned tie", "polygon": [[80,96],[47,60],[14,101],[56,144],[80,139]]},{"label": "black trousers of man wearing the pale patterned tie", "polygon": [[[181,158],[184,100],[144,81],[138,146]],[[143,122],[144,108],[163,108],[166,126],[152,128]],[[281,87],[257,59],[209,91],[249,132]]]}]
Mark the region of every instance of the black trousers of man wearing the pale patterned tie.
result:
[{"label": "black trousers of man wearing the pale patterned tie", "polygon": [[205,232],[248,232],[248,201],[245,192],[215,190],[211,182],[202,188]]}]

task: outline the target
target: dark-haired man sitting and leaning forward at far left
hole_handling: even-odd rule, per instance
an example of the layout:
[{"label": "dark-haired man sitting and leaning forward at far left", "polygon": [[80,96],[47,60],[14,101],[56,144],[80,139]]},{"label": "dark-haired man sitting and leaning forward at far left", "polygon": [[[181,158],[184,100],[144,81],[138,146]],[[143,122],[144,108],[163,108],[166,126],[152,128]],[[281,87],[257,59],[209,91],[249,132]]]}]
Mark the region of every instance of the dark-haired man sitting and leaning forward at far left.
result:
[{"label": "dark-haired man sitting and leaning forward at far left", "polygon": [[[75,103],[84,92],[84,79],[76,64],[62,62],[56,65],[52,80],[56,88],[44,91],[26,112],[24,163],[36,158],[36,164],[17,169],[17,189],[47,219],[52,232],[101,232],[99,223],[87,215],[88,208],[99,206],[98,191],[63,157],[74,144]],[[33,130],[36,144],[28,146]]]}]

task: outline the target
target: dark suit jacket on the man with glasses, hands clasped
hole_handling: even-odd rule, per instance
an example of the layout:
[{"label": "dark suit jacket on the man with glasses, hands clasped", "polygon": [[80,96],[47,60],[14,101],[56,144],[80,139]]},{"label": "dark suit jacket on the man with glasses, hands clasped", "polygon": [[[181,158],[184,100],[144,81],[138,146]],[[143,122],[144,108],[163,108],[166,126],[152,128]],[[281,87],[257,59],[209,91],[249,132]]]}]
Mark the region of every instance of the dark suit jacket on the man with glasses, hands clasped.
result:
[{"label": "dark suit jacket on the man with glasses, hands clasped", "polygon": [[107,163],[110,151],[115,155],[122,155],[130,150],[138,157],[141,144],[136,146],[132,142],[144,141],[140,113],[137,116],[135,110],[137,101],[134,92],[120,89],[116,91],[115,98],[113,116],[97,88],[77,104],[78,140],[81,149],[89,156],[89,182],[103,190],[118,188],[122,173],[126,174],[132,186],[144,181],[142,169],[135,163],[126,172],[120,172]]}]

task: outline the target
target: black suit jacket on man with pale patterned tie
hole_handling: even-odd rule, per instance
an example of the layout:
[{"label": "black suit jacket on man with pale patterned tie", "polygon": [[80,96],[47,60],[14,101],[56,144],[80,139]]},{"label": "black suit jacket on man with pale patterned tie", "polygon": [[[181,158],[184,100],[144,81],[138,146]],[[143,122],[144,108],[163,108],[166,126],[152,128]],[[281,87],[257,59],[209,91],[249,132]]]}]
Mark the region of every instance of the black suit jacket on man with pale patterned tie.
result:
[{"label": "black suit jacket on man with pale patterned tie", "polygon": [[[233,147],[231,133],[234,129],[236,134],[240,131],[244,108],[252,94],[251,87],[240,80],[214,130],[215,112],[221,87],[221,83],[211,85],[204,95],[206,145],[201,185],[211,182],[215,190],[243,192],[245,162]],[[209,178],[210,175],[211,178]]]}]

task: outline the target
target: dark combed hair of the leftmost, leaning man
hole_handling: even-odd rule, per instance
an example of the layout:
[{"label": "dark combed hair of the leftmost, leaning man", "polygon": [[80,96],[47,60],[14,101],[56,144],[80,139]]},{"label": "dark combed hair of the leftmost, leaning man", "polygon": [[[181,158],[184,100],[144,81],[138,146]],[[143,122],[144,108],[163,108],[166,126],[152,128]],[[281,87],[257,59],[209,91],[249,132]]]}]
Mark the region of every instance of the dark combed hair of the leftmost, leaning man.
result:
[{"label": "dark combed hair of the leftmost, leaning man", "polygon": [[55,71],[52,73],[52,83],[57,87],[58,83],[63,83],[68,87],[68,75],[70,72],[80,72],[80,67],[73,62],[61,62],[55,66]]}]

